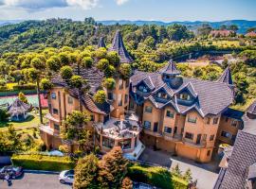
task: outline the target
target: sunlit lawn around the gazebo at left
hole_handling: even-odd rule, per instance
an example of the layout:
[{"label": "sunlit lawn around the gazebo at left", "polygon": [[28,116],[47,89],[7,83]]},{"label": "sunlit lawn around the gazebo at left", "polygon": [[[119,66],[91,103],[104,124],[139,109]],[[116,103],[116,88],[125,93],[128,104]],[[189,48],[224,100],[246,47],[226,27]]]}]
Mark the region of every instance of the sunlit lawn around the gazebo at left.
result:
[{"label": "sunlit lawn around the gazebo at left", "polygon": [[[43,110],[43,115],[46,114],[47,110]],[[43,120],[46,122],[46,119]],[[14,129],[28,129],[28,128],[35,128],[38,127],[40,124],[40,117],[38,114],[34,112],[30,112],[29,117],[27,120],[23,122],[0,122],[0,131],[8,129],[9,125],[12,125]]]}]

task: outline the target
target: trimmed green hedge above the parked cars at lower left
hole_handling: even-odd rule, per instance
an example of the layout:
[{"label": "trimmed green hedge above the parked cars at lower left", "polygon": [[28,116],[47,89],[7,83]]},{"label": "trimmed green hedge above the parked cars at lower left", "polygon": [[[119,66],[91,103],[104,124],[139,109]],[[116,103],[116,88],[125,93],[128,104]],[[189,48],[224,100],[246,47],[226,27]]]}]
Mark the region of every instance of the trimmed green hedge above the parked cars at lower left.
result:
[{"label": "trimmed green hedge above the parked cars at lower left", "polygon": [[31,170],[63,171],[75,167],[75,163],[70,158],[57,156],[14,154],[11,162],[13,165]]}]

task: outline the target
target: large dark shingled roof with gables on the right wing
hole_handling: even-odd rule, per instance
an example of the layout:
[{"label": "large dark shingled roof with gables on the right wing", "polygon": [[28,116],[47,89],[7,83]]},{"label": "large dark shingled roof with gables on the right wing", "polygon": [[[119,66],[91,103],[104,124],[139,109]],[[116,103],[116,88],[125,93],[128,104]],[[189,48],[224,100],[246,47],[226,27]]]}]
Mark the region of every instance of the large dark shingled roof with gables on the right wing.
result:
[{"label": "large dark shingled roof with gables on the right wing", "polygon": [[[141,82],[141,80],[145,79],[146,77],[151,77],[152,83],[155,86],[155,90],[152,91],[151,94],[147,95],[146,98],[144,97],[144,100],[147,99],[150,95],[154,95],[155,92],[163,86],[167,87],[169,92],[174,94],[172,96],[172,101],[174,101],[174,104],[177,104],[175,102],[175,94],[177,94],[180,89],[184,89],[186,87],[192,92],[192,95],[197,97],[195,102],[197,103],[196,106],[192,107],[192,105],[188,105],[183,107],[182,105],[177,104],[176,106],[180,109],[180,112],[187,112],[188,110],[192,110],[191,108],[194,108],[202,116],[207,114],[216,115],[225,111],[233,101],[232,89],[230,89],[226,83],[182,77],[183,82],[176,89],[172,88],[171,85],[166,84],[166,82],[164,82],[162,79],[161,73],[159,72],[146,73],[135,71],[134,75],[130,78],[132,87],[137,86],[137,83]],[[142,98],[139,99],[141,100]],[[157,105],[157,107],[162,106]]]}]

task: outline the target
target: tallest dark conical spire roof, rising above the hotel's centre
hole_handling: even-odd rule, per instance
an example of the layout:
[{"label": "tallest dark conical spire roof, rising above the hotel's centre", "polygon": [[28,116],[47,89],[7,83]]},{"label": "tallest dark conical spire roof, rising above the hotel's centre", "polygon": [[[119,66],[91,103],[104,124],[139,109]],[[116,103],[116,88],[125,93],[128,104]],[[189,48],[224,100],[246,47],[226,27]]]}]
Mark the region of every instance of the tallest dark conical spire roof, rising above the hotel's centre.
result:
[{"label": "tallest dark conical spire roof, rising above the hotel's centre", "polygon": [[119,54],[121,63],[131,63],[134,61],[124,46],[119,30],[116,32],[115,38],[109,51],[116,51]]}]

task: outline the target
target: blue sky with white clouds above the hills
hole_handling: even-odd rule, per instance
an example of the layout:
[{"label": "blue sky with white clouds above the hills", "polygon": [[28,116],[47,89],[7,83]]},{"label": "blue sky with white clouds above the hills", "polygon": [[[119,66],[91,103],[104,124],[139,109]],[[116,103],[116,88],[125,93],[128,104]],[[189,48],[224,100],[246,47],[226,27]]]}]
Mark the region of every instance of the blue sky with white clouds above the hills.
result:
[{"label": "blue sky with white clouds above the hills", "polygon": [[256,20],[256,0],[0,0],[0,20]]}]

